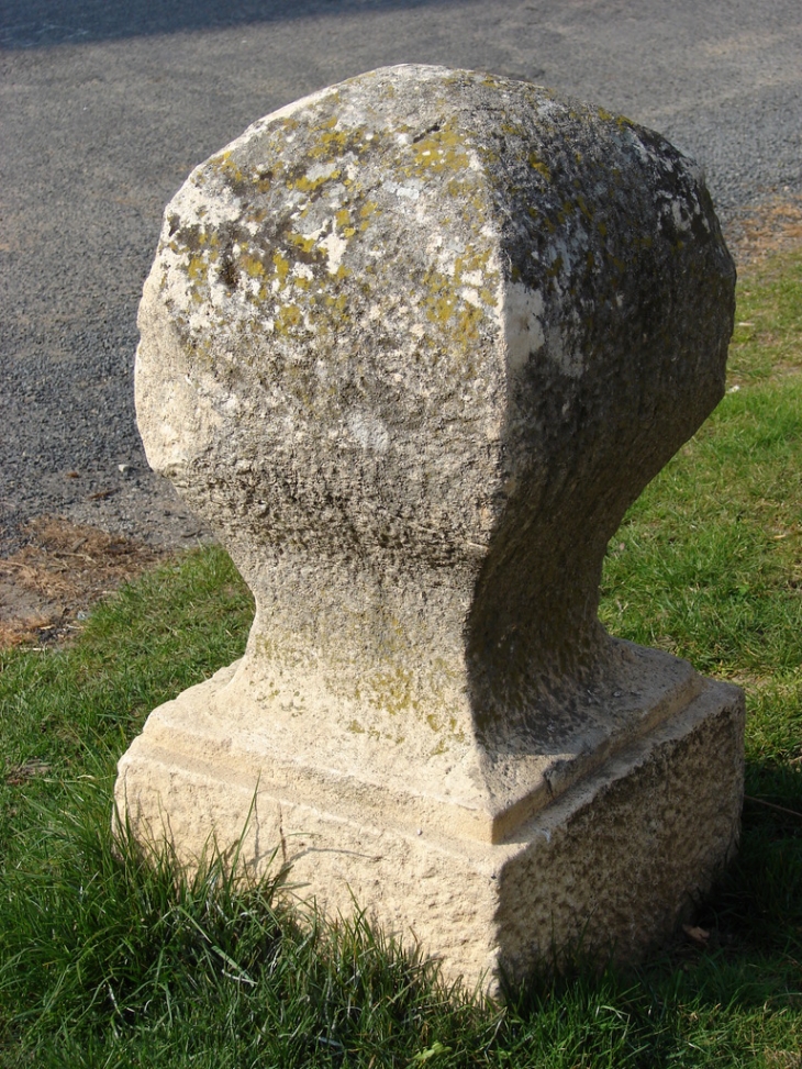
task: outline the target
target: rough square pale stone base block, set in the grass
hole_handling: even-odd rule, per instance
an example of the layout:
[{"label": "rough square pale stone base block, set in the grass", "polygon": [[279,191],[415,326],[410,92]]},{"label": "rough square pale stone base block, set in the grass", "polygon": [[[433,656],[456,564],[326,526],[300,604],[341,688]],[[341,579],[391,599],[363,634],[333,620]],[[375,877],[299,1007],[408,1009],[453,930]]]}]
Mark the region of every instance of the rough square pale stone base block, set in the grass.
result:
[{"label": "rough square pale stone base block, set in the grass", "polygon": [[[222,849],[242,837],[241,861],[254,872],[291,866],[293,893],[330,915],[365,907],[468,987],[492,990],[500,970],[520,978],[577,940],[620,960],[643,956],[671,934],[737,845],[744,700],[736,687],[702,680],[683,709],[503,842],[488,843],[378,826],[375,812],[361,823],[358,797],[345,797],[352,780],[342,805],[330,791],[316,808],[293,790],[291,756],[283,786],[274,768],[264,789],[232,746],[242,711],[226,715],[219,703],[214,739],[193,735],[198,711],[231,676],[223,669],[157,709],[122,757],[116,801],[135,834],[167,836],[189,865],[212,836]],[[165,717],[168,733],[159,731]]]}]

